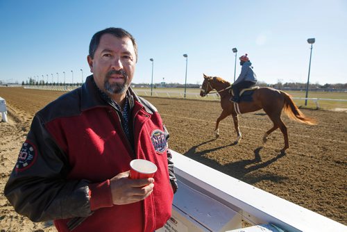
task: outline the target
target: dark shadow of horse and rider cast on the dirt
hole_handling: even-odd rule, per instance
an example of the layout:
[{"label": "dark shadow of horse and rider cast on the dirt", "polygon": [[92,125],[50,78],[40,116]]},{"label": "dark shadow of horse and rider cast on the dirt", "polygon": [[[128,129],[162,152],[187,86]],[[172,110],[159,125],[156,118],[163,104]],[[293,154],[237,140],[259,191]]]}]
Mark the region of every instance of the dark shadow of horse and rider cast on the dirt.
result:
[{"label": "dark shadow of horse and rider cast on the dirt", "polygon": [[[221,147],[214,147],[212,149],[205,149],[203,151],[196,151],[198,147],[201,147],[202,145],[208,144],[209,142],[212,142],[212,141],[214,141],[214,139],[201,142],[201,144],[197,144],[196,146],[192,147],[183,155],[189,158],[192,158],[193,160],[196,160],[199,163],[203,163],[204,165],[208,165],[209,167],[217,169],[219,172],[223,172],[225,174],[228,174],[229,176],[235,177],[236,179],[245,181],[246,183],[249,183],[249,184],[257,183],[263,180],[280,182],[283,179],[287,179],[285,176],[278,176],[276,174],[260,175],[260,174],[251,173],[256,171],[257,169],[262,169],[264,167],[267,167],[271,165],[272,163],[276,162],[276,160],[284,157],[285,151],[280,151],[280,153],[276,157],[273,157],[270,160],[266,160],[262,162],[260,151],[262,150],[263,147],[257,147],[257,149],[253,151],[254,152],[253,159],[239,160],[233,163],[228,163],[227,165],[220,165],[219,163],[217,163],[217,161],[212,160],[210,158],[206,158],[204,157],[204,155],[213,151],[217,151],[219,149],[235,146],[235,143],[227,144]],[[248,167],[249,165],[251,166]]]}]

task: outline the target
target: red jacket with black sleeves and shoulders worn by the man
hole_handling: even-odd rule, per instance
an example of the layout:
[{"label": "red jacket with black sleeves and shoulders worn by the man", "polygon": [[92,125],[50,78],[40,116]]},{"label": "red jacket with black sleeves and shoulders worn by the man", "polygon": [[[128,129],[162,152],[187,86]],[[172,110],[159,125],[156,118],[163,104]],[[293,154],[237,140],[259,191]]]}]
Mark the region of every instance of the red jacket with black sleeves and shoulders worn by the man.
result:
[{"label": "red jacket with black sleeves and shoulders worn by the man", "polygon": [[[167,222],[177,189],[169,133],[151,103],[131,88],[127,94],[132,141],[93,76],[36,113],[5,187],[19,214],[33,222],[53,219],[58,231],[154,231]],[[135,158],[158,166],[153,192],[134,204],[113,205],[110,179]]]}]

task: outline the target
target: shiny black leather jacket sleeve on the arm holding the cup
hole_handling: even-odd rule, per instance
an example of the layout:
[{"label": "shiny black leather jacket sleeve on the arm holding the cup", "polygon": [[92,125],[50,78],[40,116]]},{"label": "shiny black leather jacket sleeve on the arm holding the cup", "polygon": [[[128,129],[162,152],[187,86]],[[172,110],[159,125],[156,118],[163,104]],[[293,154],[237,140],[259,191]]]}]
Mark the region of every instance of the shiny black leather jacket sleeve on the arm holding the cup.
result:
[{"label": "shiny black leather jacket sleeve on the arm holding the cup", "polygon": [[90,215],[87,180],[66,179],[67,157],[35,115],[26,142],[34,148],[28,169],[13,169],[4,194],[17,213],[33,222]]}]

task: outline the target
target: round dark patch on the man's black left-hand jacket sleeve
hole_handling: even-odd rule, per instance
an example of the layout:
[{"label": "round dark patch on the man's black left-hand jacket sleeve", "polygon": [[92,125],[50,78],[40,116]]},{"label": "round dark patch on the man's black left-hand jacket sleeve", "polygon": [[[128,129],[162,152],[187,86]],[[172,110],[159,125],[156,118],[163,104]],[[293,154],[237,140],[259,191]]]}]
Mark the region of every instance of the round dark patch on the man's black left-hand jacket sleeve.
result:
[{"label": "round dark patch on the man's black left-hand jacket sleeve", "polygon": [[28,169],[35,163],[37,158],[36,148],[31,142],[24,142],[21,151],[19,152],[17,163],[16,163],[16,171],[21,172],[25,169]]}]

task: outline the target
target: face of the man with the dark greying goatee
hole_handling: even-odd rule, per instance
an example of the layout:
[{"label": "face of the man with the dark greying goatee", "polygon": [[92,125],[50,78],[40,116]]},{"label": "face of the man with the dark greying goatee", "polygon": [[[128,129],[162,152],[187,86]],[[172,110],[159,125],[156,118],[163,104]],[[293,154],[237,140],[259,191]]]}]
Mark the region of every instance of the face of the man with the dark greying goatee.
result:
[{"label": "face of the man with the dark greying goatee", "polygon": [[130,38],[102,35],[94,58],[88,56],[87,60],[100,90],[111,97],[114,94],[125,94],[133,80],[136,63]]}]

